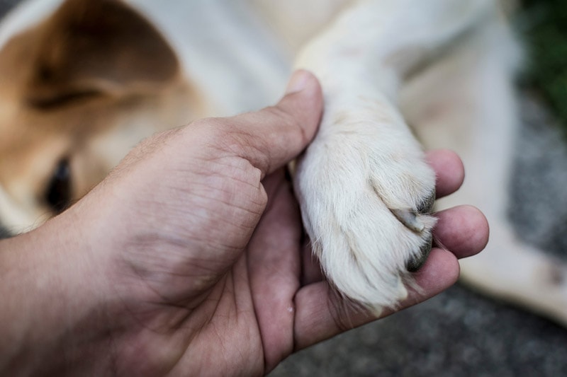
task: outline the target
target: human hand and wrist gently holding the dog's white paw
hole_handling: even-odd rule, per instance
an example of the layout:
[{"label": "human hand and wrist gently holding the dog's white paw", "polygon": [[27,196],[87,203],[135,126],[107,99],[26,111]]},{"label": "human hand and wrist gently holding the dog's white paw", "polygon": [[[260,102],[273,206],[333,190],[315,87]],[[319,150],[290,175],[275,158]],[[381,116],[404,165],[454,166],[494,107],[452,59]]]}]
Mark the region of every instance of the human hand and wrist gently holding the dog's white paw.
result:
[{"label": "human hand and wrist gently holding the dog's white paw", "polygon": [[[274,108],[148,139],[62,216],[6,240],[9,248],[45,250],[35,269],[46,282],[44,296],[11,306],[48,309],[33,337],[14,341],[43,346],[28,365],[67,373],[258,375],[375,319],[333,293],[303,245],[281,167],[315,134],[322,98],[306,74],[295,76],[290,91]],[[429,158],[439,195],[456,190],[459,159],[447,151]],[[488,226],[478,210],[438,216],[437,239],[451,252],[432,250],[416,274],[422,293],[413,292],[404,307],[453,284],[456,258],[485,245]]]}]

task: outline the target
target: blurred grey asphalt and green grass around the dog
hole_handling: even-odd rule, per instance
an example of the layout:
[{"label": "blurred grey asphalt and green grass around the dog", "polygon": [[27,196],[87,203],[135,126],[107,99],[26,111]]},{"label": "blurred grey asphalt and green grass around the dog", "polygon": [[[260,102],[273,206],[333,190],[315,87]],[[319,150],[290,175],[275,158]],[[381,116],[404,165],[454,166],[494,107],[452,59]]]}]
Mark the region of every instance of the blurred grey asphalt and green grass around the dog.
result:
[{"label": "blurred grey asphalt and green grass around the dog", "polygon": [[[18,2],[0,0],[0,18]],[[524,240],[567,260],[567,1],[524,0],[513,23],[528,59],[510,217]],[[457,284],[271,376],[567,376],[567,329]]]}]

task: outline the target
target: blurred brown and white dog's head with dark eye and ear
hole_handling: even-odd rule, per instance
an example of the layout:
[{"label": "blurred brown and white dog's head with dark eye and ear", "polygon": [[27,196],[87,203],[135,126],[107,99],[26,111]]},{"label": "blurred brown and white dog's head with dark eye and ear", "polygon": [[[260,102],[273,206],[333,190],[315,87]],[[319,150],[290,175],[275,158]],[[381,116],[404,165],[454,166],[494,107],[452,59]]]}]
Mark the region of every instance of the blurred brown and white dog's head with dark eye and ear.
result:
[{"label": "blurred brown and white dog's head with dark eye and ear", "polygon": [[67,0],[0,46],[0,225],[33,228],[140,139],[200,115],[162,35],[116,0]]}]

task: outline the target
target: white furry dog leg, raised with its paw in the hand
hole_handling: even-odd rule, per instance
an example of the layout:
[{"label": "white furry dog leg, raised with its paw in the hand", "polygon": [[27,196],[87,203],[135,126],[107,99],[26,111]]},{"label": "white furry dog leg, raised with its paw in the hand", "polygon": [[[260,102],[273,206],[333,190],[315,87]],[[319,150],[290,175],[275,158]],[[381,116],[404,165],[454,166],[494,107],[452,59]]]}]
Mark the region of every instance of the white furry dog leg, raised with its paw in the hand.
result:
[{"label": "white furry dog leg, raised with its paw in the hand", "polygon": [[491,1],[357,1],[298,55],[325,96],[300,158],[305,228],[337,290],[375,312],[407,296],[435,219],[435,177],[398,111],[405,76],[492,10]]}]

